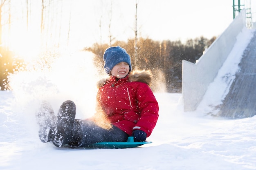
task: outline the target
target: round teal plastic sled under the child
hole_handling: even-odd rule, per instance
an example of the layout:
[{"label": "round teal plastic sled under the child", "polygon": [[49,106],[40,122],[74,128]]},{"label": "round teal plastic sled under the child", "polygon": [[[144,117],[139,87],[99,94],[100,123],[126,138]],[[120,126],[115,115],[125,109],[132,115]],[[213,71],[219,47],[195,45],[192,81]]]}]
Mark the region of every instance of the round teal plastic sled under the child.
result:
[{"label": "round teal plastic sled under the child", "polygon": [[108,148],[108,149],[122,149],[122,148],[136,148],[144,144],[151,144],[151,141],[135,142],[133,137],[128,137],[127,142],[99,142],[93,144],[93,148]]}]

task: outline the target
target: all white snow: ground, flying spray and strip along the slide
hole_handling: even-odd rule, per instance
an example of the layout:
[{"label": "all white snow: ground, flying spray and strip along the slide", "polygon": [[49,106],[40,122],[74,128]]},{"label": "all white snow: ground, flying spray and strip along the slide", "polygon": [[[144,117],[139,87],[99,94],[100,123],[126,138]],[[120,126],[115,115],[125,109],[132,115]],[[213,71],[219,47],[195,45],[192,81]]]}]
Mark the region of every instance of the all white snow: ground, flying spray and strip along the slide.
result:
[{"label": "all white snow: ground, flying spray and strip along the slide", "polygon": [[12,90],[0,91],[0,169],[256,169],[256,117],[225,119],[208,114],[218,111],[215,106],[227,94],[239,69],[241,49],[251,37],[250,30],[238,35],[231,51],[236,56],[228,57],[196,111],[183,111],[182,94],[155,93],[159,120],[147,139],[153,143],[139,148],[57,148],[52,142],[39,140],[34,112],[40,100],[47,99],[56,111],[62,102],[72,99],[77,118],[93,114],[95,83],[101,76],[91,64],[90,54],[65,55],[52,61],[50,67],[36,65],[38,69],[11,75]]}]

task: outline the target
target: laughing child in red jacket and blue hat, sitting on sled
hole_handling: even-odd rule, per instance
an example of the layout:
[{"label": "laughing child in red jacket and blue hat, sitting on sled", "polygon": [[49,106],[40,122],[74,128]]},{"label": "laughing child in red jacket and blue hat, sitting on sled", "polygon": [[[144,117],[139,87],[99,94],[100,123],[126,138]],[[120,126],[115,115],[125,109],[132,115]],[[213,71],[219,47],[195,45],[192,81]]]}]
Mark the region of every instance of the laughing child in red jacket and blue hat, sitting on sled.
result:
[{"label": "laughing child in red jacket and blue hat, sitting on sled", "polygon": [[42,142],[53,140],[61,147],[89,147],[102,141],[145,141],[158,119],[158,103],[149,85],[150,71],[132,72],[130,56],[120,46],[106,49],[103,60],[110,76],[98,83],[96,114],[85,120],[75,119],[76,106],[68,100],[57,118],[49,104],[36,113]]}]

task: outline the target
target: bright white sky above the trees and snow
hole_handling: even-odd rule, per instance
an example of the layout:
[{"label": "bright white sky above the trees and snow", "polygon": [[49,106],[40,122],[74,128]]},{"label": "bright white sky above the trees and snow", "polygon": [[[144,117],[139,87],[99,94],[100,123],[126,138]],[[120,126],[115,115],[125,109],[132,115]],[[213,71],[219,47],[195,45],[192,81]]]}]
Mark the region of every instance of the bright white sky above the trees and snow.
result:
[{"label": "bright white sky above the trees and snow", "polygon": [[[47,41],[48,47],[75,51],[94,43],[109,44],[109,35],[114,39],[112,43],[135,38],[135,0],[52,1],[45,17],[50,15],[53,19],[44,20],[43,36],[40,35],[41,1],[29,1],[28,30],[27,4],[20,0],[11,2],[14,11],[11,31],[6,25],[3,38],[9,38],[10,49],[27,59],[38,55],[41,40]],[[137,4],[138,37],[160,42],[218,37],[233,20],[232,0],[137,0]],[[252,12],[255,14],[256,9]]]}]

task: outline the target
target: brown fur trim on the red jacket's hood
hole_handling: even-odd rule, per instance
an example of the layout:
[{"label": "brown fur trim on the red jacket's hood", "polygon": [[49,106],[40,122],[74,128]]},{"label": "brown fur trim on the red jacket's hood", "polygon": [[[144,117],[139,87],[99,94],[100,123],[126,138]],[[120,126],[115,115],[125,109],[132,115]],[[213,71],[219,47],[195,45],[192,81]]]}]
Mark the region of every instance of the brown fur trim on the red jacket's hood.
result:
[{"label": "brown fur trim on the red jacket's hood", "polygon": [[[150,86],[152,83],[152,77],[153,75],[150,70],[135,70],[129,73],[130,82],[142,82],[148,84],[148,86]],[[97,87],[100,88],[103,86],[108,81],[108,79],[109,78],[103,78],[99,80]]]}]

